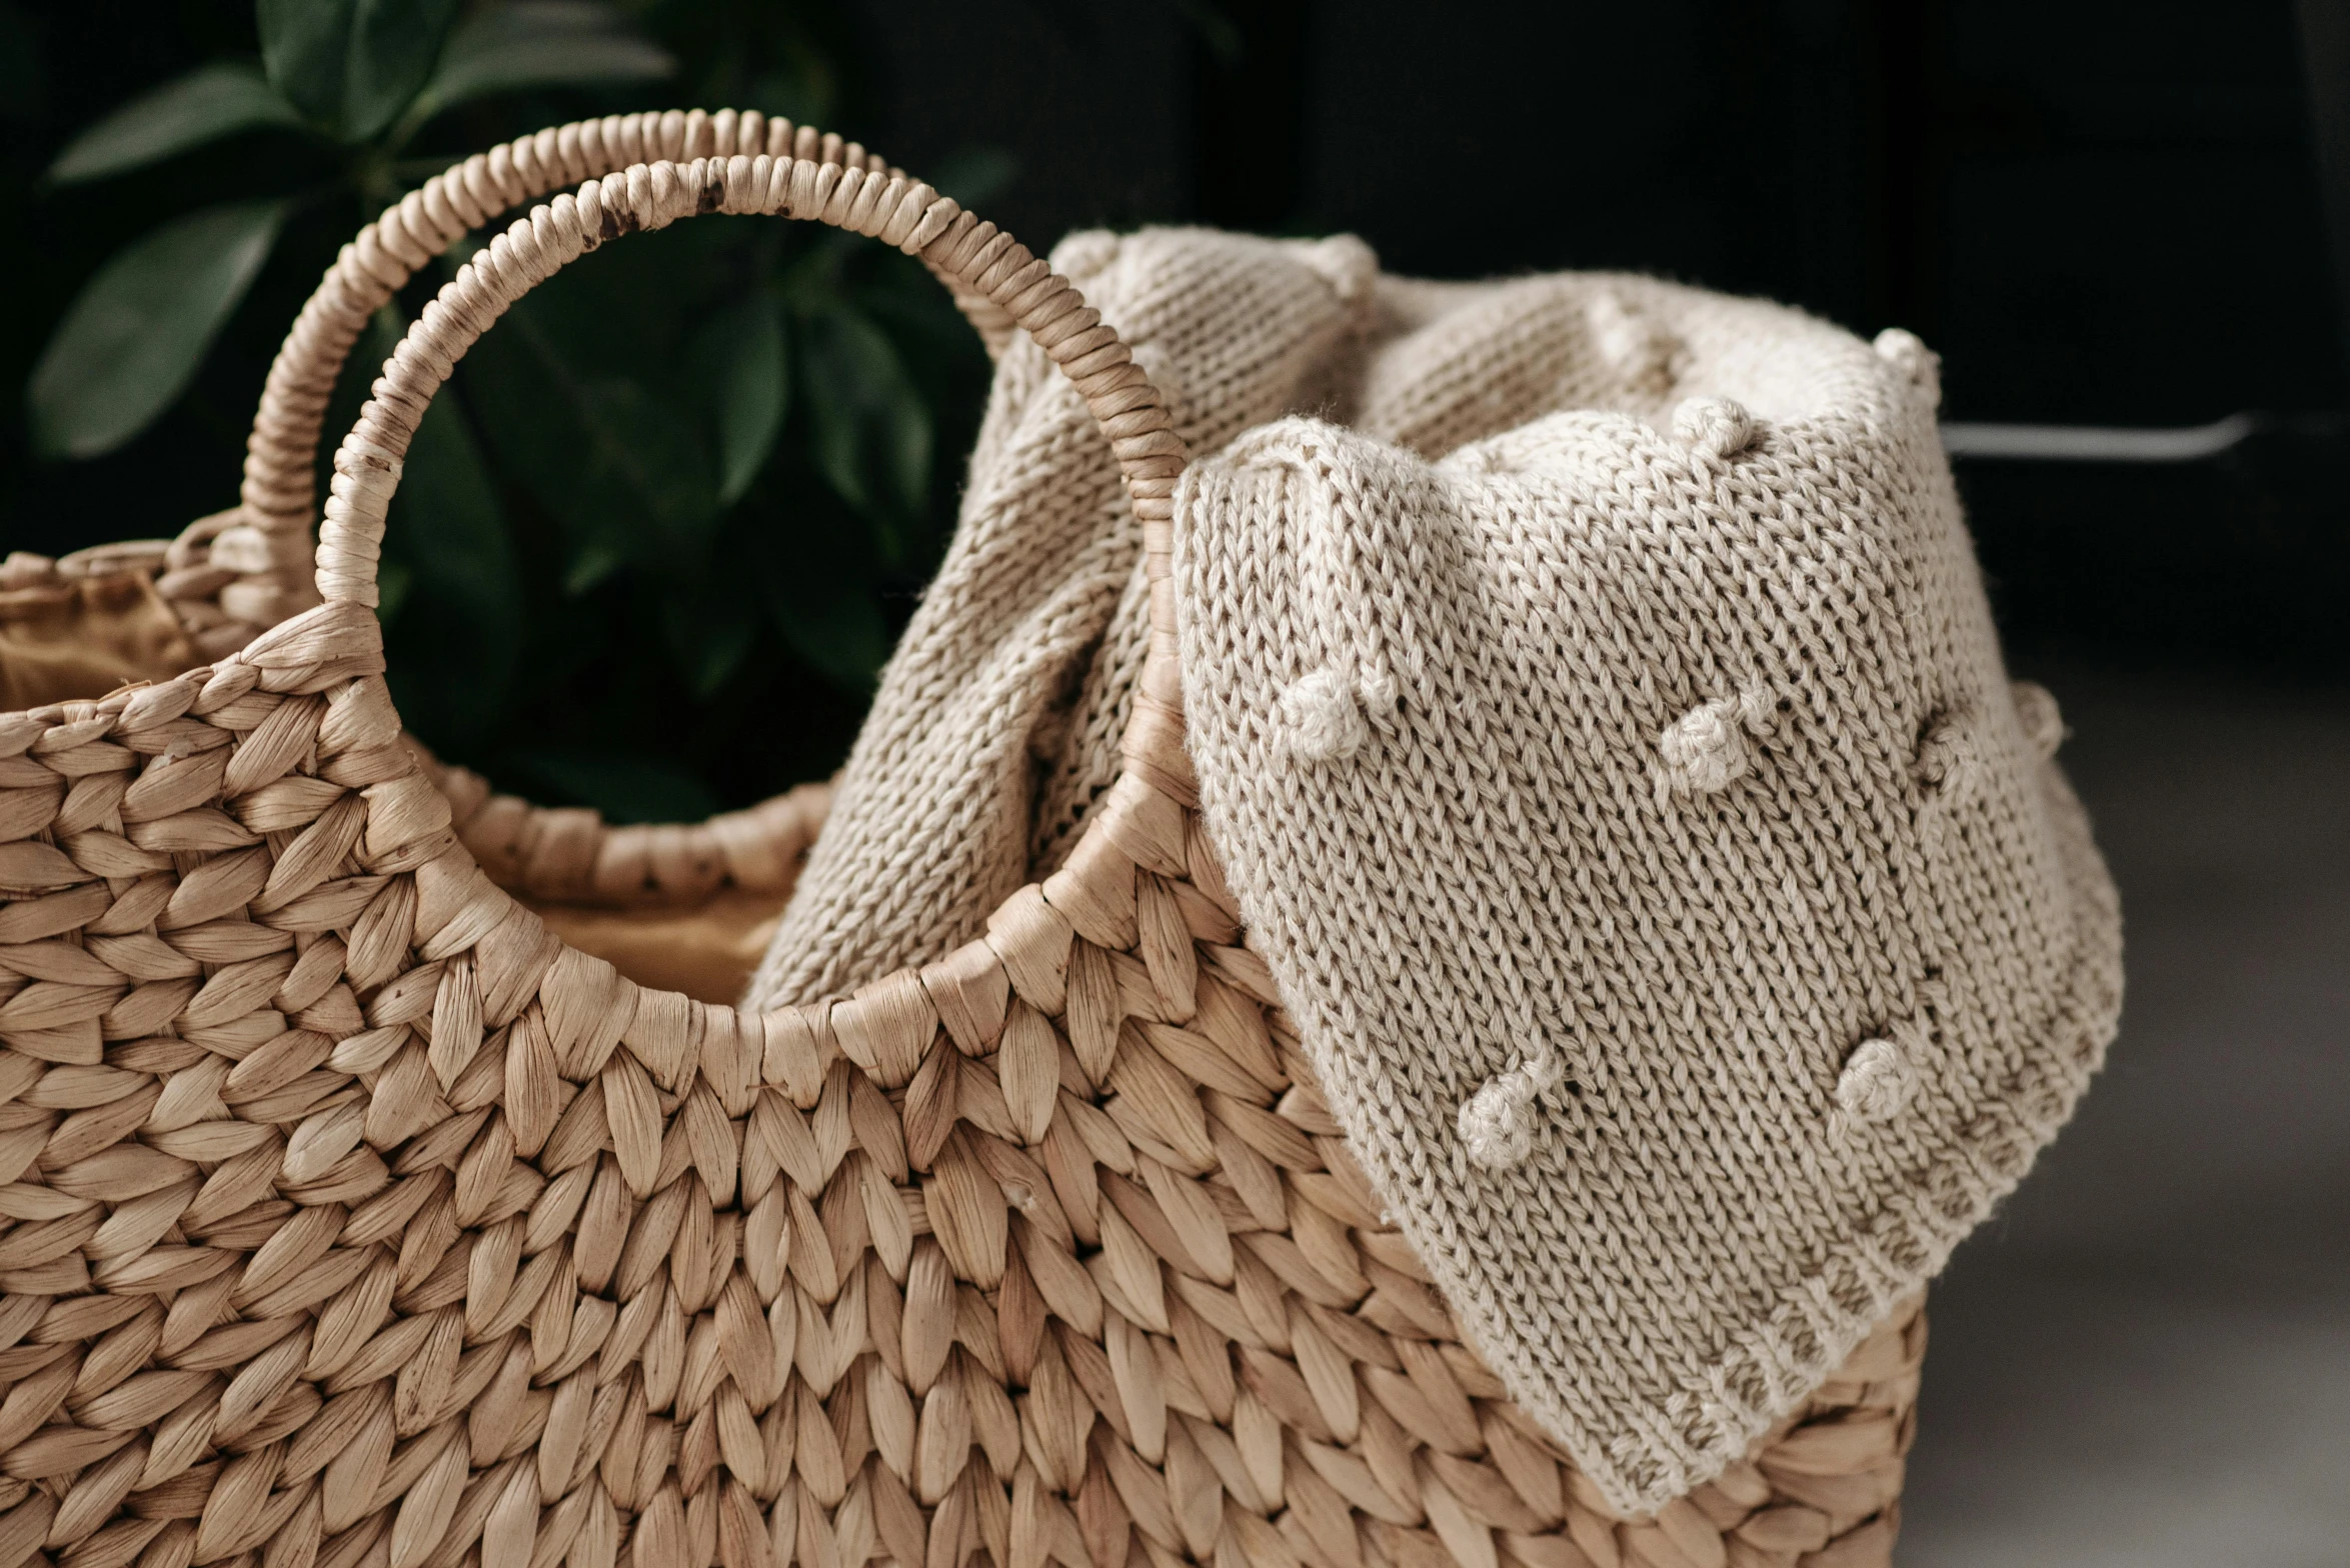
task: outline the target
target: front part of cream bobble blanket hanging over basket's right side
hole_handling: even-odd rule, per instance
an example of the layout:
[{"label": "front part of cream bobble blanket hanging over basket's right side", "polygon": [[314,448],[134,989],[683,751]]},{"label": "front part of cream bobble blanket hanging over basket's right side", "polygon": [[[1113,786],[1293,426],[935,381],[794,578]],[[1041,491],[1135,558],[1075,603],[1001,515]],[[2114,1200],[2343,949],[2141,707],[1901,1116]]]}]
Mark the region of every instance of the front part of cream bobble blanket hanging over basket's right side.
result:
[{"label": "front part of cream bobble blanket hanging over basket's right side", "polygon": [[[1278,420],[1177,484],[1198,826],[1429,1282],[1650,1514],[1798,1413],[2063,1122],[2113,1033],[2113,890],[2002,707],[1904,371],[1629,277],[1375,303],[1398,336],[1351,350],[1354,427]],[[1676,345],[1657,392],[1633,317]],[[1692,392],[1762,441],[1699,451],[1741,437],[1718,401],[1676,441]],[[1340,768],[1288,749],[1311,671],[1370,730]],[[1943,714],[1962,810],[1911,772]]]}]

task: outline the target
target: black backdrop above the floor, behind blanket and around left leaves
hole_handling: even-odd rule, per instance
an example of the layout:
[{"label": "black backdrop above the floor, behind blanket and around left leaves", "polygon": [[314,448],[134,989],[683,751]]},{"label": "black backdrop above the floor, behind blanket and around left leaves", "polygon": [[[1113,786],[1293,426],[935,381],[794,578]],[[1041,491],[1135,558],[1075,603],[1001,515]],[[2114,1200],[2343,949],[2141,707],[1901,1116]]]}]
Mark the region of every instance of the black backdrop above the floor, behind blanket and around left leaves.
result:
[{"label": "black backdrop above the floor, behind blanket and around left leaves", "polygon": [[[1969,462],[1962,481],[2016,636],[2301,678],[2343,669],[2345,333],[2291,0],[712,9],[790,14],[822,61],[830,117],[907,167],[1008,150],[1018,176],[992,209],[1039,242],[1081,223],[1206,221],[1349,228],[1389,268],[1441,277],[1638,268],[1861,333],[1911,326],[1943,354],[1958,420],[2277,415],[2218,462]],[[16,399],[96,263],[157,204],[183,209],[202,195],[190,188],[228,178],[181,160],[45,192],[40,169],[96,108],[249,49],[233,2],[0,14],[9,547],[167,535],[233,493],[235,432],[313,282],[301,270],[263,279],[197,397],[127,453],[28,465]],[[2350,77],[2350,49],[2319,70],[2336,75]],[[548,117],[580,106],[550,99]],[[458,120],[439,138],[461,153],[465,134]],[[219,157],[289,153],[244,138]],[[317,221],[350,228],[341,211]]]}]

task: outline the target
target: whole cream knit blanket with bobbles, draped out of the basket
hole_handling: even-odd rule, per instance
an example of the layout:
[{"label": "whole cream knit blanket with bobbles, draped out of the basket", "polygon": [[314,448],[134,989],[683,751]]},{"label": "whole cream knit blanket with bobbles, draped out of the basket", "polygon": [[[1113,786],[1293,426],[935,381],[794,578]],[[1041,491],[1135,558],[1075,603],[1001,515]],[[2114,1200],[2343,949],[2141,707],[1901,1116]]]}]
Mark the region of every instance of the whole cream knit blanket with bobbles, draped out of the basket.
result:
[{"label": "whole cream knit blanket with bobbles, draped out of the basket", "polygon": [[[1384,279],[1349,242],[1060,261],[1196,451],[1255,425],[1177,493],[1189,744],[1335,1115],[1610,1500],[1690,1491],[1941,1268],[2120,1007],[1932,357],[1633,277]],[[1140,667],[1109,472],[1013,350],[754,1000],[975,934],[1107,782]]]}]

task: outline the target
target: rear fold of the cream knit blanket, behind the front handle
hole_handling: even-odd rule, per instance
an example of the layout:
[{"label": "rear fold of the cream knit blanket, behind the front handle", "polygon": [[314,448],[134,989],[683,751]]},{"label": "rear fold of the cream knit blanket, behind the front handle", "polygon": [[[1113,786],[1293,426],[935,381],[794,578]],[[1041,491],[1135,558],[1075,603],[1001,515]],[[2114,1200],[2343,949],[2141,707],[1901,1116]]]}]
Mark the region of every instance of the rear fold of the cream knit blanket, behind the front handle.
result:
[{"label": "rear fold of the cream knit blanket, behind the front handle", "polygon": [[[1356,239],[1072,235],[1194,451],[1307,406],[1375,272]],[[1147,648],[1142,528],[1067,378],[1003,345],[961,519],[874,695],[747,1007],[846,995],[978,937],[1116,779]]]}]

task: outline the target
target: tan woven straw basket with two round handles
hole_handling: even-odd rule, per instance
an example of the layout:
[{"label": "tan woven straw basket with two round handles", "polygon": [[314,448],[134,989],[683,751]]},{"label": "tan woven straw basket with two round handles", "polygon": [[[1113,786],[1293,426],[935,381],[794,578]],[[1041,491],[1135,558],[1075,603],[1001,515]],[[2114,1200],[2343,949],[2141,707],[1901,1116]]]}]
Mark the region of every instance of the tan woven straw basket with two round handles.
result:
[{"label": "tan woven straw basket with two round handles", "polygon": [[[367,317],[559,188],[385,364],[313,594]],[[1154,587],[1126,772],[1069,864],[982,941],[766,1016],[639,986],[501,883],[773,904],[822,796],[691,829],[451,810],[374,617],[451,364],[583,251],[707,211],[874,235],[1034,336]],[[566,124],[367,228],[268,378],[237,509],[7,568],[125,580],[167,610],[153,657],[212,662],[0,716],[0,1568],[1882,1563],[1915,1305],[1748,1462],[1617,1519],[1382,1225],[1194,815],[1182,465],[1076,289],[806,127]]]}]

